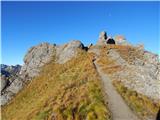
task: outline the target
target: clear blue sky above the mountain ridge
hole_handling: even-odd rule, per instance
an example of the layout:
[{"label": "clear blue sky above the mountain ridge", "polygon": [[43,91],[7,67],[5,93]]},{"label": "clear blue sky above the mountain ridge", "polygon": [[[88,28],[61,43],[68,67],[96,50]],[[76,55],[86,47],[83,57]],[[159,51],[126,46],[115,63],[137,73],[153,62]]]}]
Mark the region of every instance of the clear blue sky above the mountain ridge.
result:
[{"label": "clear blue sky above the mountain ridge", "polygon": [[101,31],[160,52],[160,2],[2,2],[1,7],[3,64],[23,64],[27,50],[41,42],[95,44]]}]

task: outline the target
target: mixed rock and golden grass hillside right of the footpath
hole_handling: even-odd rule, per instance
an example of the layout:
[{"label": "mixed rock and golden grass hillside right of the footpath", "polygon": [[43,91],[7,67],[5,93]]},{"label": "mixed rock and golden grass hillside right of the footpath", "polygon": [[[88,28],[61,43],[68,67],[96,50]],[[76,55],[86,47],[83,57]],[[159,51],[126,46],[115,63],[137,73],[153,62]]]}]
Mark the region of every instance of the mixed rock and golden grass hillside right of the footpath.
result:
[{"label": "mixed rock and golden grass hillside right of the footpath", "polygon": [[[146,59],[146,56],[152,57]],[[98,63],[126,103],[143,120],[155,120],[160,108],[157,57],[141,47],[108,45],[100,49]]]}]

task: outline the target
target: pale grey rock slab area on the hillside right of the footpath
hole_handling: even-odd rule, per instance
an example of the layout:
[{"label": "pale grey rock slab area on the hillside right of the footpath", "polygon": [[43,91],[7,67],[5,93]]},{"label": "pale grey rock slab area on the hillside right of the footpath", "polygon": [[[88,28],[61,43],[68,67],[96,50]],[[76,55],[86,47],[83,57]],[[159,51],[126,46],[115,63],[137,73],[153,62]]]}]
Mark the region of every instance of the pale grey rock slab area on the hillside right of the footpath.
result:
[{"label": "pale grey rock slab area on the hillside right of the footpath", "polygon": [[[160,62],[158,56],[143,50],[141,52],[143,52],[142,58],[133,56],[133,63],[130,64],[121,57],[122,53],[110,50],[108,56],[122,67],[122,70],[110,77],[122,81],[126,87],[138,93],[154,100],[160,100]],[[137,60],[141,60],[141,62]]]}]

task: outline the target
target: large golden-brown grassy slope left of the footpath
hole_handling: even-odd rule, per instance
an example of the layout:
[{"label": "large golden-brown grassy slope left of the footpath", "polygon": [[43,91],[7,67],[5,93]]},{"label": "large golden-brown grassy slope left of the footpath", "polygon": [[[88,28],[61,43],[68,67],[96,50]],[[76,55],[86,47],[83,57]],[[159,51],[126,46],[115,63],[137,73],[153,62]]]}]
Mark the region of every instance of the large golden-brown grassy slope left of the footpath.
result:
[{"label": "large golden-brown grassy slope left of the footpath", "polygon": [[92,56],[80,52],[64,65],[46,65],[2,108],[3,120],[110,120]]}]

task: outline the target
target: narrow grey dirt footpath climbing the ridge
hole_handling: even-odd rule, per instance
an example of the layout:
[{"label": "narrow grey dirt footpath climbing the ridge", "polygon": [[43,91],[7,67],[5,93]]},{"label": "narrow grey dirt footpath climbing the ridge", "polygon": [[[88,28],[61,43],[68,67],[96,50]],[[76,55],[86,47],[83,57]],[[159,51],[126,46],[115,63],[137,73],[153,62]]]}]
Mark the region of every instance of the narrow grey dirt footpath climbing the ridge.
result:
[{"label": "narrow grey dirt footpath climbing the ridge", "polygon": [[[97,52],[95,54],[97,54]],[[95,61],[93,61],[93,64],[95,65],[97,72],[101,77],[102,83],[104,84],[104,90],[107,94],[107,102],[112,113],[113,120],[139,120],[125,103],[121,95],[116,91],[112,85],[111,79],[101,70],[101,67],[98,65],[97,61],[98,59],[96,58]]]}]

